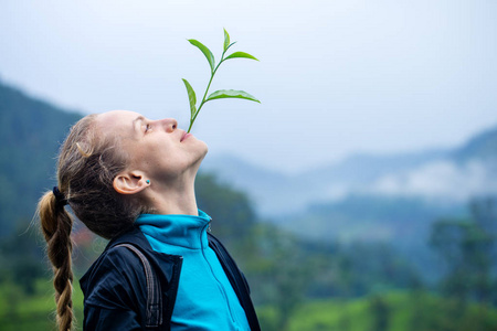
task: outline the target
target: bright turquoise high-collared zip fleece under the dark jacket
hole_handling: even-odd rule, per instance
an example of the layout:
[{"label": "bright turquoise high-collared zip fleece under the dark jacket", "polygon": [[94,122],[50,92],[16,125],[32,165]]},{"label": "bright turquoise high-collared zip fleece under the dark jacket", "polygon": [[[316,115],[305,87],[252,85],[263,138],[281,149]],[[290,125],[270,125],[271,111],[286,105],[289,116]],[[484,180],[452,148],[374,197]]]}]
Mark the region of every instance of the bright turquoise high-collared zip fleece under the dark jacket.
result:
[{"label": "bright turquoise high-collared zip fleece under the dark jacket", "polygon": [[250,330],[245,311],[209,247],[211,217],[142,214],[136,224],[150,246],[183,257],[171,330]]}]

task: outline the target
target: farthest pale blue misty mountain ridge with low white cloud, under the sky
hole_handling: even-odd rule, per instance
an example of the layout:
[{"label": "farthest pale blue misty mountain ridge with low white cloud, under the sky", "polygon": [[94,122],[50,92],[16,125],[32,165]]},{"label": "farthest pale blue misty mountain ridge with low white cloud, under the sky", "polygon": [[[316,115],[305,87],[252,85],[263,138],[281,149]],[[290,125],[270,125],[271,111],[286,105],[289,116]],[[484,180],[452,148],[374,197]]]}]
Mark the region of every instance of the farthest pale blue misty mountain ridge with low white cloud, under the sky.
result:
[{"label": "farthest pale blue misty mountain ridge with low white cloud, under the sky", "polygon": [[294,175],[264,170],[230,154],[209,156],[201,169],[247,191],[266,216],[358,195],[461,204],[473,196],[497,194],[497,127],[454,149],[358,153]]}]

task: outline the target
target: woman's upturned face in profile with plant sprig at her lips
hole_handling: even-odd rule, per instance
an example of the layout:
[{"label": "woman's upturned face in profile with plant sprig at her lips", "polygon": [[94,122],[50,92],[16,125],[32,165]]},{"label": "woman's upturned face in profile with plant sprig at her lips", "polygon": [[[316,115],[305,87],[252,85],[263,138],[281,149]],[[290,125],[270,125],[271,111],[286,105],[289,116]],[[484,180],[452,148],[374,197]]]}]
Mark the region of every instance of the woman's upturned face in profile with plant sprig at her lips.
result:
[{"label": "woman's upturned face in profile with plant sprig at her lips", "polygon": [[195,174],[208,151],[203,141],[178,129],[172,118],[150,120],[138,113],[114,110],[98,115],[97,127],[104,135],[119,137],[129,156],[128,169],[144,172],[152,182]]}]

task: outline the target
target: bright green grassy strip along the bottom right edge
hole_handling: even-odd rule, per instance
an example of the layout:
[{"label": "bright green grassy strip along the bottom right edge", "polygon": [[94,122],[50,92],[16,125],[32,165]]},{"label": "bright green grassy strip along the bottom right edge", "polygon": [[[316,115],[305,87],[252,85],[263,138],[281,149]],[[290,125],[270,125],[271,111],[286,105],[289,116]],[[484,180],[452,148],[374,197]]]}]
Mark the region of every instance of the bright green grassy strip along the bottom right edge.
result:
[{"label": "bright green grassy strip along the bottom right edge", "polygon": [[[453,302],[427,292],[389,292],[356,300],[305,302],[289,322],[290,331],[490,331],[497,328],[497,310],[473,305],[457,318]],[[380,314],[377,314],[381,311]],[[262,329],[279,330],[273,306],[258,307]]]}]

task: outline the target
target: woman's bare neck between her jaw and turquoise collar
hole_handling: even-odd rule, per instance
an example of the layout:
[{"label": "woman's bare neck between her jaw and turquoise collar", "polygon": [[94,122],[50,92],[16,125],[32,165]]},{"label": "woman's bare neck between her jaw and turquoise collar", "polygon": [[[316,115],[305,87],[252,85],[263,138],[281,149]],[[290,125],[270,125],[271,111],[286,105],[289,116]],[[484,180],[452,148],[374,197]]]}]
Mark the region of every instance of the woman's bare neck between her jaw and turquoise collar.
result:
[{"label": "woman's bare neck between her jaw and turquoise collar", "polygon": [[147,189],[147,200],[156,214],[199,214],[197,207],[194,178],[175,183],[151,183]]}]

